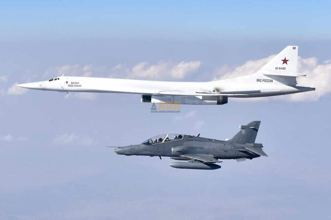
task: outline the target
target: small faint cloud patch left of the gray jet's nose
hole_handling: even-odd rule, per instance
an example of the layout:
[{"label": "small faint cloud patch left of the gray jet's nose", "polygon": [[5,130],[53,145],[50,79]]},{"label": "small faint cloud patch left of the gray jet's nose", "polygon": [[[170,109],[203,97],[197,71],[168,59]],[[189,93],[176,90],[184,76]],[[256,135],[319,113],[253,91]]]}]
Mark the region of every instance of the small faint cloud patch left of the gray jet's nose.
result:
[{"label": "small faint cloud patch left of the gray jet's nose", "polygon": [[53,144],[59,145],[91,145],[93,140],[89,136],[76,135],[74,133],[65,133],[62,134],[53,140]]}]

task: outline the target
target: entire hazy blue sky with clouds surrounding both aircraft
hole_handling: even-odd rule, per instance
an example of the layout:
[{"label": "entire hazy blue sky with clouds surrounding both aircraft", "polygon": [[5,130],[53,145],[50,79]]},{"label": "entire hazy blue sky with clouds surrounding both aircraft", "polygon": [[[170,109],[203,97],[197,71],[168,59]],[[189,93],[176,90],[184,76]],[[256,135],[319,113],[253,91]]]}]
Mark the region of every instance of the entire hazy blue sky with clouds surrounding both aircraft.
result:
[{"label": "entire hazy blue sky with clouds surrounding both aircraft", "polygon": [[[330,218],[329,1],[1,1],[0,219]],[[18,83],[61,76],[210,81],[252,74],[299,46],[314,92],[151,113],[133,94]],[[163,133],[219,140],[260,120],[269,157],[217,170],[105,146]]]}]

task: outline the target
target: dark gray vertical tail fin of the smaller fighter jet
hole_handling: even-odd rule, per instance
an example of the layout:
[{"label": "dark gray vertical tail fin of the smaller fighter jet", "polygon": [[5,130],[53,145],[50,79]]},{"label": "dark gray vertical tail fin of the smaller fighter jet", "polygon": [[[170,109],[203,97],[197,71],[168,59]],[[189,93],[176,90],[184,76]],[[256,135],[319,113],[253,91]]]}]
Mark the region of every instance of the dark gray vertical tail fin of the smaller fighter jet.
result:
[{"label": "dark gray vertical tail fin of the smaller fighter jet", "polygon": [[230,141],[246,144],[255,143],[256,135],[258,134],[261,121],[254,121],[247,125],[240,125],[241,129]]}]

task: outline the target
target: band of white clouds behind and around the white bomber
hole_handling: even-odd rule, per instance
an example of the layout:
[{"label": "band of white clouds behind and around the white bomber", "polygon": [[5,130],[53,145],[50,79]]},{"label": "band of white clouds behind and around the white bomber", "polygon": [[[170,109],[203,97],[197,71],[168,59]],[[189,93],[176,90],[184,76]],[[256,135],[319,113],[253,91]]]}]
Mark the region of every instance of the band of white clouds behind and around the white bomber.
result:
[{"label": "band of white clouds behind and around the white bomber", "polygon": [[[270,55],[258,60],[249,60],[243,65],[231,67],[223,65],[217,68],[214,72],[213,80],[233,78],[244,75],[249,75],[257,72],[275,55]],[[171,61],[159,61],[156,64],[149,64],[147,61],[140,62],[134,66],[125,66],[117,64],[113,67],[94,66],[94,65],[64,65],[50,67],[43,77],[54,76],[85,76],[85,77],[112,77],[112,78],[127,78],[127,79],[150,79],[150,80],[178,80],[187,77],[190,73],[194,73],[201,67],[201,61],[181,61],[174,63]],[[319,97],[331,92],[331,60],[325,60],[318,63],[316,57],[302,58],[298,57],[298,72],[307,74],[309,78],[297,78],[298,86],[315,87],[316,91],[291,94],[282,97],[276,97],[291,101],[302,100],[317,100]],[[8,81],[7,76],[0,76],[0,82]],[[21,95],[27,92],[27,89],[19,88],[13,84],[8,88],[8,94]],[[95,99],[96,93],[73,93],[67,94],[65,97],[76,97],[79,99],[91,100]],[[275,97],[271,97],[275,98]],[[253,100],[269,100],[253,99]]]}]

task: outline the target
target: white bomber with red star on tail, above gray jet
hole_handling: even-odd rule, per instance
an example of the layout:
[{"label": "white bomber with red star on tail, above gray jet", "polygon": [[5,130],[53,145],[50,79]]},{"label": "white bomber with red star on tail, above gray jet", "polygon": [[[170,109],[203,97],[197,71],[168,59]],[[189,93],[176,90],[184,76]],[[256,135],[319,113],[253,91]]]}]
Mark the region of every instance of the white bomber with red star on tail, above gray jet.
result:
[{"label": "white bomber with red star on tail, above gray jet", "polygon": [[57,92],[109,92],[141,94],[141,102],[222,105],[228,97],[250,98],[314,91],[297,86],[298,46],[287,46],[258,72],[210,82],[166,82],[132,79],[59,76],[17,86]]}]

